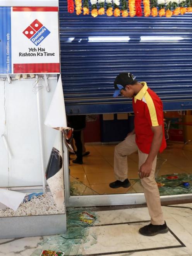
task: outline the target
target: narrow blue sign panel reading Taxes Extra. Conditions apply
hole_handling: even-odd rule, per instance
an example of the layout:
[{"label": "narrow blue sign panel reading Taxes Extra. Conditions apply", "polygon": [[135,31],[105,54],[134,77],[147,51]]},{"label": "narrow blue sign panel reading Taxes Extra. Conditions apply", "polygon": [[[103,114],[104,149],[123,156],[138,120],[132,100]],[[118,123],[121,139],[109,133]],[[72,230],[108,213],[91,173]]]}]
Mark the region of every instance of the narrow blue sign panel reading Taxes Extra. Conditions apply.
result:
[{"label": "narrow blue sign panel reading Taxes Extra. Conditions apply", "polygon": [[11,7],[0,7],[0,74],[11,71]]}]

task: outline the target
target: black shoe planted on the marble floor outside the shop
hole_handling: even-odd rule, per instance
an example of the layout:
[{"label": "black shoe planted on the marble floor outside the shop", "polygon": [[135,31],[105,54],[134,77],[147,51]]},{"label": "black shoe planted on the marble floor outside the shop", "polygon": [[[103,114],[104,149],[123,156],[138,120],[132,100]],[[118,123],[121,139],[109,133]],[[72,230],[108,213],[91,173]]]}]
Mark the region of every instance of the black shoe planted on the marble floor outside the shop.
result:
[{"label": "black shoe planted on the marble floor outside the shop", "polygon": [[150,223],[149,225],[146,225],[146,226],[142,227],[141,229],[139,229],[140,234],[147,235],[147,236],[164,234],[167,232],[168,232],[168,227],[166,225],[166,222],[163,225],[153,225]]}]

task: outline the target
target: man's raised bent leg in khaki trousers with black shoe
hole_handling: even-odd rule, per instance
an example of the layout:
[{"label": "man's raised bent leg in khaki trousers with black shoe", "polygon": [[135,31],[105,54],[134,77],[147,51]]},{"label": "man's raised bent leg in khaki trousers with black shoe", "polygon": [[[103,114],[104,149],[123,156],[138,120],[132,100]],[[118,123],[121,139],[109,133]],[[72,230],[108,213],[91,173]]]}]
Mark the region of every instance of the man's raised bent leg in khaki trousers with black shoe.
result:
[{"label": "man's raised bent leg in khaki trousers with black shoe", "polygon": [[[124,141],[115,146],[114,151],[114,172],[115,182],[110,183],[111,188],[129,187],[130,182],[127,179],[127,156],[137,151],[135,143],[135,134],[127,136]],[[128,164],[129,165],[129,164]]]}]

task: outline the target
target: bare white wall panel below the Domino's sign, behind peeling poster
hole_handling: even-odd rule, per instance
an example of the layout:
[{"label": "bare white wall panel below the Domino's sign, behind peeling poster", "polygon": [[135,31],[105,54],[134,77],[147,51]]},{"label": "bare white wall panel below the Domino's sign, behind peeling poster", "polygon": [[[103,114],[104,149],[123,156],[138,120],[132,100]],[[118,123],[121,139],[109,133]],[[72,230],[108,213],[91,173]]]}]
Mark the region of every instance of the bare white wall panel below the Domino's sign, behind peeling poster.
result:
[{"label": "bare white wall panel below the Domino's sign, behind peeling poster", "polygon": [[[46,91],[45,81],[40,81],[44,119],[57,86],[57,77],[51,77],[48,81],[49,93]],[[12,158],[8,159],[5,144],[0,136],[0,187],[7,187],[8,184],[10,187],[42,185],[35,82],[35,79],[16,80],[12,81],[12,84],[5,82],[5,127],[4,81],[0,80],[0,135],[5,132],[12,153]],[[43,125],[45,167],[56,132]]]}]

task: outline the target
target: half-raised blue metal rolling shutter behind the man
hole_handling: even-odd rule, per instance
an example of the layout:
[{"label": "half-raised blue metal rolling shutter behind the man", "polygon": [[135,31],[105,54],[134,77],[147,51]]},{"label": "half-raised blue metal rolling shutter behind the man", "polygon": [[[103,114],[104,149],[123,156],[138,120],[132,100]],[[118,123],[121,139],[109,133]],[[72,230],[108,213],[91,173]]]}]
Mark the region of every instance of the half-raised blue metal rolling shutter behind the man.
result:
[{"label": "half-raised blue metal rolling shutter behind the man", "polygon": [[60,1],[63,91],[68,114],[132,112],[113,98],[113,81],[129,71],[146,81],[164,110],[192,109],[192,14],[96,18],[67,13]]}]

